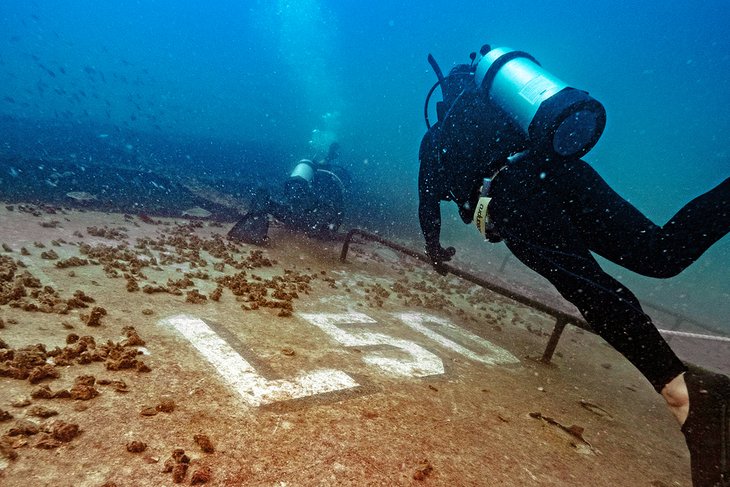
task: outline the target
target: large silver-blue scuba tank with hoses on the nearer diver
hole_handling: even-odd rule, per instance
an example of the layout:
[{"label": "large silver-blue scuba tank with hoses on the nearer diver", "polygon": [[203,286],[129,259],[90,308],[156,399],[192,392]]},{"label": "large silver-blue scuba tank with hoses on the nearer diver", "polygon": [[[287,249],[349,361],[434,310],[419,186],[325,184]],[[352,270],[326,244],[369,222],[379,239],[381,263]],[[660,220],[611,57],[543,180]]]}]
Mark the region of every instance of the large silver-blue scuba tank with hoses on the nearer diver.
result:
[{"label": "large silver-blue scuba tank with hoses on the nearer diver", "polygon": [[[466,110],[459,107],[462,95],[476,96],[498,110],[501,123],[485,120],[487,130],[494,126],[511,125],[522,140],[515,145],[534,147],[546,154],[559,157],[580,157],[598,142],[606,126],[606,110],[587,92],[570,87],[564,81],[543,69],[531,55],[506,47],[490,48],[485,45],[480,56],[471,54],[471,65],[460,65],[444,77],[433,56],[429,63],[439,80],[426,98],[427,108],[436,86],[441,85],[444,107],[437,109],[439,120],[454,117],[450,124],[458,126],[458,118]],[[464,71],[468,66],[468,82]],[[458,94],[456,90],[461,90]],[[462,117],[464,118],[464,117]],[[468,118],[468,117],[467,117]],[[467,123],[473,124],[473,121]]]}]

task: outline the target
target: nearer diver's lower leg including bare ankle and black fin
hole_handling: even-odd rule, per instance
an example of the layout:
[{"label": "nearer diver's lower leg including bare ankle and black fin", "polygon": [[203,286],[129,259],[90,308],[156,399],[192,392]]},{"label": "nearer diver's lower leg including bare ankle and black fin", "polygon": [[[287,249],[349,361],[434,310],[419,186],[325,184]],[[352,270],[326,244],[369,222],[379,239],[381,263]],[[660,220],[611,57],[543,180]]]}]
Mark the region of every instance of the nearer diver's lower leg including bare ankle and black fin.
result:
[{"label": "nearer diver's lower leg including bare ankle and black fin", "polygon": [[556,206],[555,195],[537,192],[524,198],[519,178],[515,181],[504,185],[502,197],[490,204],[508,248],[550,280],[662,394],[683,425],[694,486],[729,485],[730,378],[697,368],[686,371],[635,296],[600,269],[570,212]]}]

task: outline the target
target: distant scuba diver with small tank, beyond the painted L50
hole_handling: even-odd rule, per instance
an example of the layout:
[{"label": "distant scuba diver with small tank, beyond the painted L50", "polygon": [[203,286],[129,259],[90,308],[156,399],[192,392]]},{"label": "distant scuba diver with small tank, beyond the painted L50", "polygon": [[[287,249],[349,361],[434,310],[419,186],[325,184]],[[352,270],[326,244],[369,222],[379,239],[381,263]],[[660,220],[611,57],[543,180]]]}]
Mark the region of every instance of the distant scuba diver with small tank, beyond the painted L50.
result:
[{"label": "distant scuba diver with small tank, beyond the painted L50", "polygon": [[253,196],[250,211],[228,232],[246,243],[268,242],[270,217],[292,230],[322,240],[336,238],[342,225],[345,192],[351,184],[348,171],[339,163],[340,145],[335,142],[327,155],[313,162],[302,159],[284,183],[284,199],[270,197],[265,188]]}]

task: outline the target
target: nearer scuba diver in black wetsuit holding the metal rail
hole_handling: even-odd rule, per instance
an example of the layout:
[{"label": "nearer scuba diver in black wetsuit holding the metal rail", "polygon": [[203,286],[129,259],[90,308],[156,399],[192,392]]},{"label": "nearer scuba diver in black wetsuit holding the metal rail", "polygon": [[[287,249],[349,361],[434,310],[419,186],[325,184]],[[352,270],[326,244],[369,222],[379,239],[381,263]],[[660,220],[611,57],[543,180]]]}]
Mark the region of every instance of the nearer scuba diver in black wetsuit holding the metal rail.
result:
[{"label": "nearer scuba diver in black wetsuit holding the metal rail", "polygon": [[655,225],[581,159],[605,126],[600,103],[526,53],[484,46],[471,59],[445,77],[429,56],[439,80],[426,100],[418,184],[434,268],[445,274],[455,254],[439,236],[440,202],[454,201],[465,223],[547,278],[662,395],[682,425],[693,485],[730,486],[730,378],[680,361],[592,255],[650,277],[677,275],[728,233],[730,178]]}]

